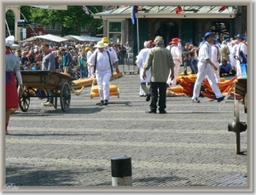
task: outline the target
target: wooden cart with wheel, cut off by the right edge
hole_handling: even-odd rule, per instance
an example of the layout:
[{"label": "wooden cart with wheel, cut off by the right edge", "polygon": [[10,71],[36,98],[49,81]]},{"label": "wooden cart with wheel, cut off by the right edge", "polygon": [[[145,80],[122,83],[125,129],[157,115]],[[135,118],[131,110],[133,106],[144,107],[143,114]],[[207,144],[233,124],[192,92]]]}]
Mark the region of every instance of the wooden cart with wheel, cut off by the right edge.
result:
[{"label": "wooden cart with wheel, cut off by the right edge", "polygon": [[[247,78],[239,78],[235,84],[235,92],[241,95],[244,112],[247,113]],[[234,122],[229,123],[229,131],[236,133],[236,154],[240,153],[240,133],[247,130],[247,123],[241,122],[239,117],[239,101],[235,99]]]}]

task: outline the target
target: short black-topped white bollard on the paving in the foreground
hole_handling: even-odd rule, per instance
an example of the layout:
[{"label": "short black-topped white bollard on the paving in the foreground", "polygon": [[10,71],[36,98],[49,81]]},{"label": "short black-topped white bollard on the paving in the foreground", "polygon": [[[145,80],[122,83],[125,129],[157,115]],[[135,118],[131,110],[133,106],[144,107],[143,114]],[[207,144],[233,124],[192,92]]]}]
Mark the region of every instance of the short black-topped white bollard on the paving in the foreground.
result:
[{"label": "short black-topped white bollard on the paving in the foreground", "polygon": [[112,186],[132,186],[131,158],[111,158]]}]

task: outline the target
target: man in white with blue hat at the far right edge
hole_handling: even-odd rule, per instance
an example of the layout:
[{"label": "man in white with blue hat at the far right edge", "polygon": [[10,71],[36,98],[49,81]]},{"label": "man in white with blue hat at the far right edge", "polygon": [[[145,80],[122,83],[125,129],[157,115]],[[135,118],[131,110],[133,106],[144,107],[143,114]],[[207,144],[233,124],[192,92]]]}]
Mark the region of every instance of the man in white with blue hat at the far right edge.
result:
[{"label": "man in white with blue hat at the far right edge", "polygon": [[241,34],[238,34],[236,36],[236,40],[238,42],[238,45],[237,45],[237,48],[236,48],[236,58],[238,60],[236,60],[236,75],[237,75],[237,78],[242,78],[241,76],[241,52],[244,54],[245,56],[245,60],[247,60],[247,45],[245,43],[243,43],[245,37],[243,37],[243,35]]}]

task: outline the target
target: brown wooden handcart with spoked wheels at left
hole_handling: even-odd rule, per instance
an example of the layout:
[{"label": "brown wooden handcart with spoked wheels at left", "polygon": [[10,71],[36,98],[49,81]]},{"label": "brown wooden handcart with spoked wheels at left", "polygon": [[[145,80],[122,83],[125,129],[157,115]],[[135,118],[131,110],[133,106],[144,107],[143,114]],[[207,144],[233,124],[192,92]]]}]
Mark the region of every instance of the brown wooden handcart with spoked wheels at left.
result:
[{"label": "brown wooden handcart with spoked wheels at left", "polygon": [[[19,106],[26,112],[31,97],[39,97],[37,90],[52,90],[55,97],[54,107],[57,109],[57,98],[60,97],[61,109],[66,112],[70,106],[72,81],[76,80],[60,72],[51,71],[20,71],[24,93],[20,95]],[[49,97],[47,95],[46,97]]]}]

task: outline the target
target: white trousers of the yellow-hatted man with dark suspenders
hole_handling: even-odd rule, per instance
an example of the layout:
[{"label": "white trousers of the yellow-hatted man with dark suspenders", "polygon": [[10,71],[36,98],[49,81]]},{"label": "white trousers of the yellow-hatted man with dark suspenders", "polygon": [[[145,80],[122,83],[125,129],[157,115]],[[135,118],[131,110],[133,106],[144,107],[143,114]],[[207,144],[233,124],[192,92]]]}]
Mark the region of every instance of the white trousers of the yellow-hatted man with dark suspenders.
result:
[{"label": "white trousers of the yellow-hatted man with dark suspenders", "polygon": [[111,71],[96,72],[96,79],[98,84],[98,90],[101,100],[109,100],[109,79],[111,77]]}]

